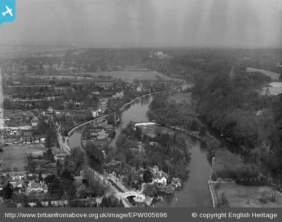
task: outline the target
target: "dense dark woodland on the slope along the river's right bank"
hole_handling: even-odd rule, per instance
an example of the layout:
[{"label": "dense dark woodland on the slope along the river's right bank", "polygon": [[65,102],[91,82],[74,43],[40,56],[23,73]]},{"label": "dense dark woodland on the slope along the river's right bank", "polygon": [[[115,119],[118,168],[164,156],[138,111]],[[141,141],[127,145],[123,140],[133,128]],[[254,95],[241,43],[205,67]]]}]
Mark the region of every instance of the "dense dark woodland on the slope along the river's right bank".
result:
[{"label": "dense dark woodland on the slope along the river's right bank", "polygon": [[250,153],[245,161],[259,168],[262,178],[280,183],[282,170],[282,97],[260,95],[269,82],[261,73],[236,70],[198,76],[192,89],[197,110],[212,128]]}]

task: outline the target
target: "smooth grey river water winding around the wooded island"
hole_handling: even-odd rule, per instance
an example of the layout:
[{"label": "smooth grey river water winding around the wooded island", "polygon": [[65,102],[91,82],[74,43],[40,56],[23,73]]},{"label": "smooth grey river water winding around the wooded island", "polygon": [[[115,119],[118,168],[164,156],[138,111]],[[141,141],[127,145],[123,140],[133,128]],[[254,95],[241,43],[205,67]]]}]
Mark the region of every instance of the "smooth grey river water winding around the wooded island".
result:
[{"label": "smooth grey river water winding around the wooded island", "polygon": [[[186,84],[182,88],[185,89],[191,84]],[[181,95],[181,94],[179,94]],[[190,97],[190,93],[187,93]],[[175,96],[174,96],[175,97]],[[138,99],[129,105],[121,114],[121,123],[116,128],[116,138],[121,134],[121,129],[125,127],[129,121],[147,121],[146,112],[152,101],[152,96],[146,96]],[[80,138],[86,126],[82,126],[75,130],[70,136],[71,147],[81,146]],[[170,130],[174,133],[173,130]],[[177,188],[174,194],[163,195],[154,203],[155,207],[211,207],[212,197],[208,187],[208,180],[211,173],[211,163],[207,159],[207,149],[203,143],[192,136],[186,135],[187,141],[191,145],[191,161],[188,165],[190,171],[189,178],[182,183],[181,188]],[[112,141],[114,145],[115,139]],[[94,160],[90,161],[90,166],[96,171],[105,174],[105,170]]]}]

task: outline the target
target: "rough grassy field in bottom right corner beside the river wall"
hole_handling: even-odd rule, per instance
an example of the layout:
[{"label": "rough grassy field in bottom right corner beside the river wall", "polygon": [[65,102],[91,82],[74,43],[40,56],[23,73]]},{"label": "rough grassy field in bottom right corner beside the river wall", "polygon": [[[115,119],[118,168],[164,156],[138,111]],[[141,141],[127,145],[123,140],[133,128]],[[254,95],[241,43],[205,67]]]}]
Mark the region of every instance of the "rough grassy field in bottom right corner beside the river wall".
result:
[{"label": "rough grassy field in bottom right corner beside the river wall", "polygon": [[271,187],[242,186],[235,183],[212,186],[215,188],[219,203],[223,195],[229,207],[282,207],[282,194]]}]

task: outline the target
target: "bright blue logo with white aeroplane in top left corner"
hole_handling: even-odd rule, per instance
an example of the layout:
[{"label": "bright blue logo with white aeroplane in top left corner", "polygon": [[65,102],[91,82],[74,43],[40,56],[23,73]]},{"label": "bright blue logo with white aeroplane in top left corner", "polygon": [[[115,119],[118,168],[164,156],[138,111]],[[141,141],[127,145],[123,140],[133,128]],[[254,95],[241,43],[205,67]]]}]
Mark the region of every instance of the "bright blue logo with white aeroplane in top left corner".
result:
[{"label": "bright blue logo with white aeroplane in top left corner", "polygon": [[0,26],[3,22],[14,21],[15,15],[15,0],[0,0]]}]

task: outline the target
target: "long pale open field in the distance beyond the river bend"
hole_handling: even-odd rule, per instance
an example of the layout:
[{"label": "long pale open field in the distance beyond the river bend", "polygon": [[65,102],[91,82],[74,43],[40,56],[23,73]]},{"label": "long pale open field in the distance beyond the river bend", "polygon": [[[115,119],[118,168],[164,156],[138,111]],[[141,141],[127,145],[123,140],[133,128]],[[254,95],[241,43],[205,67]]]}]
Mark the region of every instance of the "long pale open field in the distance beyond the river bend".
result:
[{"label": "long pale open field in the distance beyond the river bend", "polygon": [[112,72],[86,72],[85,74],[92,74],[93,76],[112,76],[113,78],[121,78],[123,81],[130,81],[132,82],[134,79],[139,80],[157,80],[157,76],[159,76],[162,79],[165,80],[178,80],[176,78],[171,78],[168,76],[165,76],[159,72],[149,72],[149,71],[112,71]]}]

